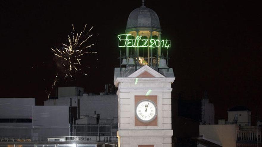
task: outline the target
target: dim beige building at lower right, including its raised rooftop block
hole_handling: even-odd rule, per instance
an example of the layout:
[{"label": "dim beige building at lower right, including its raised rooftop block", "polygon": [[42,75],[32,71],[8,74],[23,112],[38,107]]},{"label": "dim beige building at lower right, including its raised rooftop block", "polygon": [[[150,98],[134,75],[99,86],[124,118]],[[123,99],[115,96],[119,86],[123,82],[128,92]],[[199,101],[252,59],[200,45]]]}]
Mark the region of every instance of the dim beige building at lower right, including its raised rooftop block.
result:
[{"label": "dim beige building at lower right, including its raised rooftop block", "polygon": [[228,121],[220,119],[218,125],[199,126],[199,135],[223,147],[261,146],[261,127],[251,126],[251,111],[236,106],[227,111]]}]

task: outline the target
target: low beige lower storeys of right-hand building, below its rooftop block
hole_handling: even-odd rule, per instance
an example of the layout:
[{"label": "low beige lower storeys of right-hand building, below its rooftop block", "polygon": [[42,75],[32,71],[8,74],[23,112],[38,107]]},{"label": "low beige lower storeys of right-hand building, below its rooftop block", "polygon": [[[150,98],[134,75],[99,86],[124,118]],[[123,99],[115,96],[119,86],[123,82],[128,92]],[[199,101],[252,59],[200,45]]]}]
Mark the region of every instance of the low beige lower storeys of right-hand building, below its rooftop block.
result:
[{"label": "low beige lower storeys of right-hand building, below its rooftop block", "polygon": [[261,128],[256,126],[200,125],[199,135],[223,147],[256,147],[257,141],[261,146]]}]

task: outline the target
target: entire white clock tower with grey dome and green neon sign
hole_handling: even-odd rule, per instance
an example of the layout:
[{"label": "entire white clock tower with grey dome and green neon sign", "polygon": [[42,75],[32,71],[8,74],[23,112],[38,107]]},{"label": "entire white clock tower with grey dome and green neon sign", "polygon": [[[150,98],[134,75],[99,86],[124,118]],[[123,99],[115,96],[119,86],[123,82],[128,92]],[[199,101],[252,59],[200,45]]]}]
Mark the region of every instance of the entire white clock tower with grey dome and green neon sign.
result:
[{"label": "entire white clock tower with grey dome and green neon sign", "polygon": [[161,40],[160,35],[159,18],[144,1],[130,13],[126,33],[118,35],[120,67],[114,73],[118,147],[171,147],[175,77],[168,67],[170,40]]}]

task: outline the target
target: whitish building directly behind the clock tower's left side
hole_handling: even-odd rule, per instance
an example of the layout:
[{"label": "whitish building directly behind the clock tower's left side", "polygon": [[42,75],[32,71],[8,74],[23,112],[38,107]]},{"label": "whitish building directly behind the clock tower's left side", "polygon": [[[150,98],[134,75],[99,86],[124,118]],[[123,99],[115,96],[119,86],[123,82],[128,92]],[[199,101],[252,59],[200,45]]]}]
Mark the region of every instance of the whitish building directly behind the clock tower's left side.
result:
[{"label": "whitish building directly behind the clock tower's left side", "polygon": [[89,140],[96,140],[100,136],[103,138],[101,140],[116,140],[117,95],[110,93],[114,92],[107,85],[105,93],[101,95],[87,94],[81,87],[59,87],[58,97],[44,101],[44,105],[66,105],[70,108],[71,101],[69,116],[72,136],[94,137]]}]

